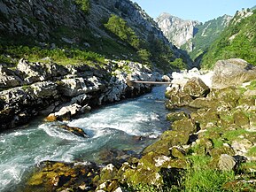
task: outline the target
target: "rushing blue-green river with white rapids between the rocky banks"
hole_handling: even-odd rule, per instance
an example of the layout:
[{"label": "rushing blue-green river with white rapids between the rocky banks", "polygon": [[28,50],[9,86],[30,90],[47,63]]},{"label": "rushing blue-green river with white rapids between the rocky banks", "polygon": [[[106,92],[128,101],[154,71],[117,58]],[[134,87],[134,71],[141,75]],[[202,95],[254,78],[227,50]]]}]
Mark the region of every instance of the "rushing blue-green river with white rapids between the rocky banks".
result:
[{"label": "rushing blue-green river with white rapids between the rocky banks", "polygon": [[150,94],[107,105],[67,123],[81,127],[89,138],[42,119],[0,134],[0,191],[22,183],[24,175],[43,160],[100,163],[105,150],[140,152],[167,129],[164,92],[164,86],[156,87]]}]

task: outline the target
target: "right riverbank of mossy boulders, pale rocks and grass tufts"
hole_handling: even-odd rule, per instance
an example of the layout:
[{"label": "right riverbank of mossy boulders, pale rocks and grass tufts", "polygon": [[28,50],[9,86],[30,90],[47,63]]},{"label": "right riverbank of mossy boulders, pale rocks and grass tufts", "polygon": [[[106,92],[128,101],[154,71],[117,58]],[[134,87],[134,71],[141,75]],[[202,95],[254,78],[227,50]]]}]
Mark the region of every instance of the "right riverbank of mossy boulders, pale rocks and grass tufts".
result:
[{"label": "right riverbank of mossy boulders, pale rocks and grass tufts", "polygon": [[[225,70],[227,67],[229,70]],[[171,127],[141,156],[109,165],[45,161],[35,168],[24,188],[98,192],[255,191],[253,72],[255,68],[244,60],[229,59],[219,61],[211,73],[201,74],[196,69],[182,73],[179,78],[184,77],[180,81],[183,84],[175,83],[179,81],[174,79],[174,84],[167,88],[167,108],[172,111],[185,107],[190,112],[170,112],[167,119]],[[230,80],[235,77],[239,82]]]}]

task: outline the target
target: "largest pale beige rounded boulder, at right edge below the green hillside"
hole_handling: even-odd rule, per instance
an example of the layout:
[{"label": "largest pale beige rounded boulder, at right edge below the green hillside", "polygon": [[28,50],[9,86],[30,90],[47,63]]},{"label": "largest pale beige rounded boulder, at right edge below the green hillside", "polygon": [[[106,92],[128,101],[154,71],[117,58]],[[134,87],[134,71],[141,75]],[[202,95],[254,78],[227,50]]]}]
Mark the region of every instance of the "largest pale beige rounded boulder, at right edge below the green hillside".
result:
[{"label": "largest pale beige rounded boulder, at right edge below the green hillside", "polygon": [[213,87],[240,85],[256,79],[256,67],[240,58],[219,60],[213,69]]}]

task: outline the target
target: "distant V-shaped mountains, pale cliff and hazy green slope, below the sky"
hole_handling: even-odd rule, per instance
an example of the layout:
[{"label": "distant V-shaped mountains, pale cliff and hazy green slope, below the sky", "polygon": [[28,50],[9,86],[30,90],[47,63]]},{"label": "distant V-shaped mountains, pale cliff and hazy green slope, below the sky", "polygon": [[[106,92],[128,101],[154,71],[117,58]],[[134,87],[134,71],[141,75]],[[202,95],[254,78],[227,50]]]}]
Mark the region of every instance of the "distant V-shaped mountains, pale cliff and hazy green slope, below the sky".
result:
[{"label": "distant V-shaped mountains, pale cliff and hazy green slope, below the sky", "polygon": [[182,50],[187,50],[192,59],[204,53],[210,44],[228,26],[232,17],[224,15],[217,19],[201,23],[195,20],[183,20],[163,13],[156,19],[167,39]]}]

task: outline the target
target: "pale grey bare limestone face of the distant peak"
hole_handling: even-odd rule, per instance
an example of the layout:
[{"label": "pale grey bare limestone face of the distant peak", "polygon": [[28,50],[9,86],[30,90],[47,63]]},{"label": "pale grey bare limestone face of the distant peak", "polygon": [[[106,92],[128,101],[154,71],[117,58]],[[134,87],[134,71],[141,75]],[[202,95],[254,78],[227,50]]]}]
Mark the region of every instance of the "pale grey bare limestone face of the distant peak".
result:
[{"label": "pale grey bare limestone face of the distant peak", "polygon": [[200,25],[198,21],[183,20],[168,13],[162,13],[156,21],[168,40],[179,48],[194,37]]}]

